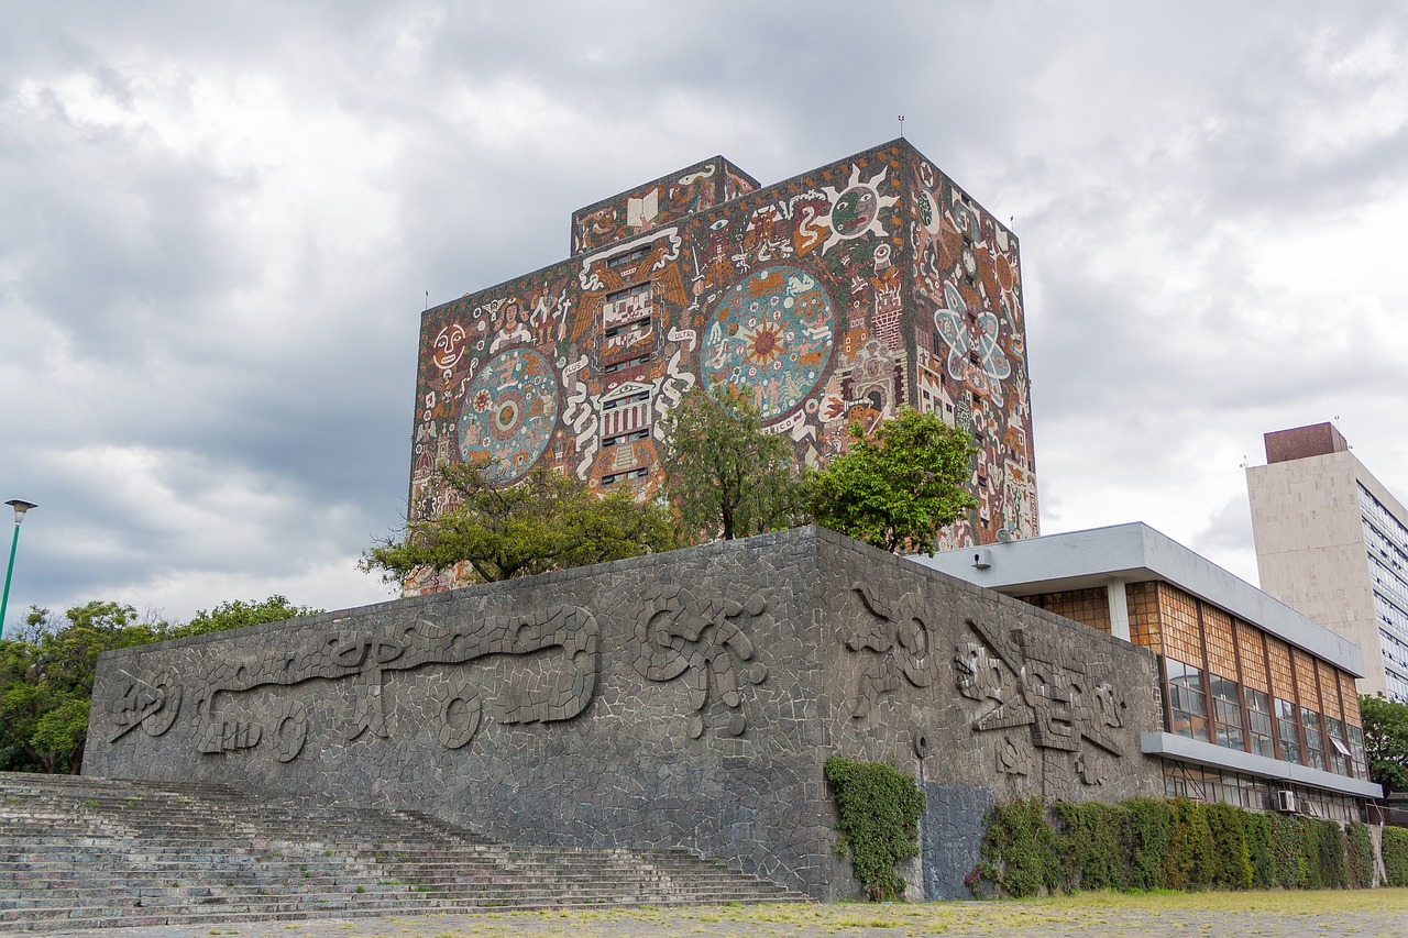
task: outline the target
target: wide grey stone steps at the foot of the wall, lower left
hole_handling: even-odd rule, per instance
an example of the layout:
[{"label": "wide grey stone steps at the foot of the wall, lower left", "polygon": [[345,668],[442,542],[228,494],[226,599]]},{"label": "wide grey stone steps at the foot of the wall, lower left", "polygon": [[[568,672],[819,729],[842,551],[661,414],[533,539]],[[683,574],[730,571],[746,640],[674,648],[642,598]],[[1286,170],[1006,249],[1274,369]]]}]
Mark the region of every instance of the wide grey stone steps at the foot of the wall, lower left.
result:
[{"label": "wide grey stone steps at the foot of the wall, lower left", "polygon": [[804,899],[683,849],[515,846],[411,811],[0,773],[0,932]]}]

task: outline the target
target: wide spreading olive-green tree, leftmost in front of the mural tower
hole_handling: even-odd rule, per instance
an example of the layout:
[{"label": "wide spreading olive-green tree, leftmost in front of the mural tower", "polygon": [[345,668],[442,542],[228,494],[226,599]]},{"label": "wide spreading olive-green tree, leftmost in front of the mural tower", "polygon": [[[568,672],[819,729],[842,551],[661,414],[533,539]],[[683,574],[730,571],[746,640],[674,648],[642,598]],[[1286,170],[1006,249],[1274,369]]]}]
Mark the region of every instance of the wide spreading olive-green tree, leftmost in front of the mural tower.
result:
[{"label": "wide spreading olive-green tree, leftmost in front of the mural tower", "polygon": [[396,582],[469,563],[487,583],[676,546],[663,507],[635,501],[627,487],[598,499],[546,465],[503,484],[486,477],[483,463],[459,463],[439,470],[439,486],[453,507],[363,551],[363,570]]}]

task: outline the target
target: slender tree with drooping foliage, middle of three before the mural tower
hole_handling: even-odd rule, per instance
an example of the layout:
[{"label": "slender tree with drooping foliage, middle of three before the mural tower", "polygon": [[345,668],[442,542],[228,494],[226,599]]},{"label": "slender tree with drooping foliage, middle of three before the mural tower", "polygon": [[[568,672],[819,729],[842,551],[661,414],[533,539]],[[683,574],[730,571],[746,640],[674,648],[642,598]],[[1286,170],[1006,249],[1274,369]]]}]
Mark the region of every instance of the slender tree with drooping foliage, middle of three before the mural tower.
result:
[{"label": "slender tree with drooping foliage, middle of three before the mural tower", "polygon": [[660,431],[665,487],[689,541],[731,541],[805,521],[791,441],[763,432],[745,389],[696,387]]}]

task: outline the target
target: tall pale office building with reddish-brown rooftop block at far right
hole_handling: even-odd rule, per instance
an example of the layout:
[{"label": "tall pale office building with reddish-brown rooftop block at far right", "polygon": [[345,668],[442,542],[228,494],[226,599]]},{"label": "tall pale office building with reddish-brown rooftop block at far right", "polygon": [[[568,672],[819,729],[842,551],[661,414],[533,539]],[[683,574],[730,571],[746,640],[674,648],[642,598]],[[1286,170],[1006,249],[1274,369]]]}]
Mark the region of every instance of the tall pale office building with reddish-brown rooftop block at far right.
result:
[{"label": "tall pale office building with reddish-brown rooftop block at far right", "polygon": [[1363,649],[1360,693],[1408,701],[1408,508],[1332,424],[1264,439],[1246,470],[1262,589]]}]

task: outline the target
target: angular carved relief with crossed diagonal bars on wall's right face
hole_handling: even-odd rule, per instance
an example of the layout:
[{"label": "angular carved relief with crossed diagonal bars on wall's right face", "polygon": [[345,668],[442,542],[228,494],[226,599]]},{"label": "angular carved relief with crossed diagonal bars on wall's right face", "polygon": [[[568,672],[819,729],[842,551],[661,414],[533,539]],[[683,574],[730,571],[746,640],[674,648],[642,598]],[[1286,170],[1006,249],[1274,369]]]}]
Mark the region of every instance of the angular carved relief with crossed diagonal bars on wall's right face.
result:
[{"label": "angular carved relief with crossed diagonal bars on wall's right face", "polygon": [[[1059,796],[1069,776],[1084,784],[1104,784],[1105,758],[1124,755],[1110,732],[1124,725],[1125,711],[1114,684],[1090,675],[1087,663],[1060,645],[1038,646],[1025,630],[1002,631],[979,620],[964,621],[981,644],[957,645],[953,679],[962,696],[983,704],[972,714],[973,731],[1026,727],[1031,748],[1041,752],[1043,794]],[[1014,676],[1011,687],[1002,666]],[[1069,753],[1064,761],[1063,753]],[[1004,734],[998,768],[1026,775],[1029,765],[1024,746]]]}]

